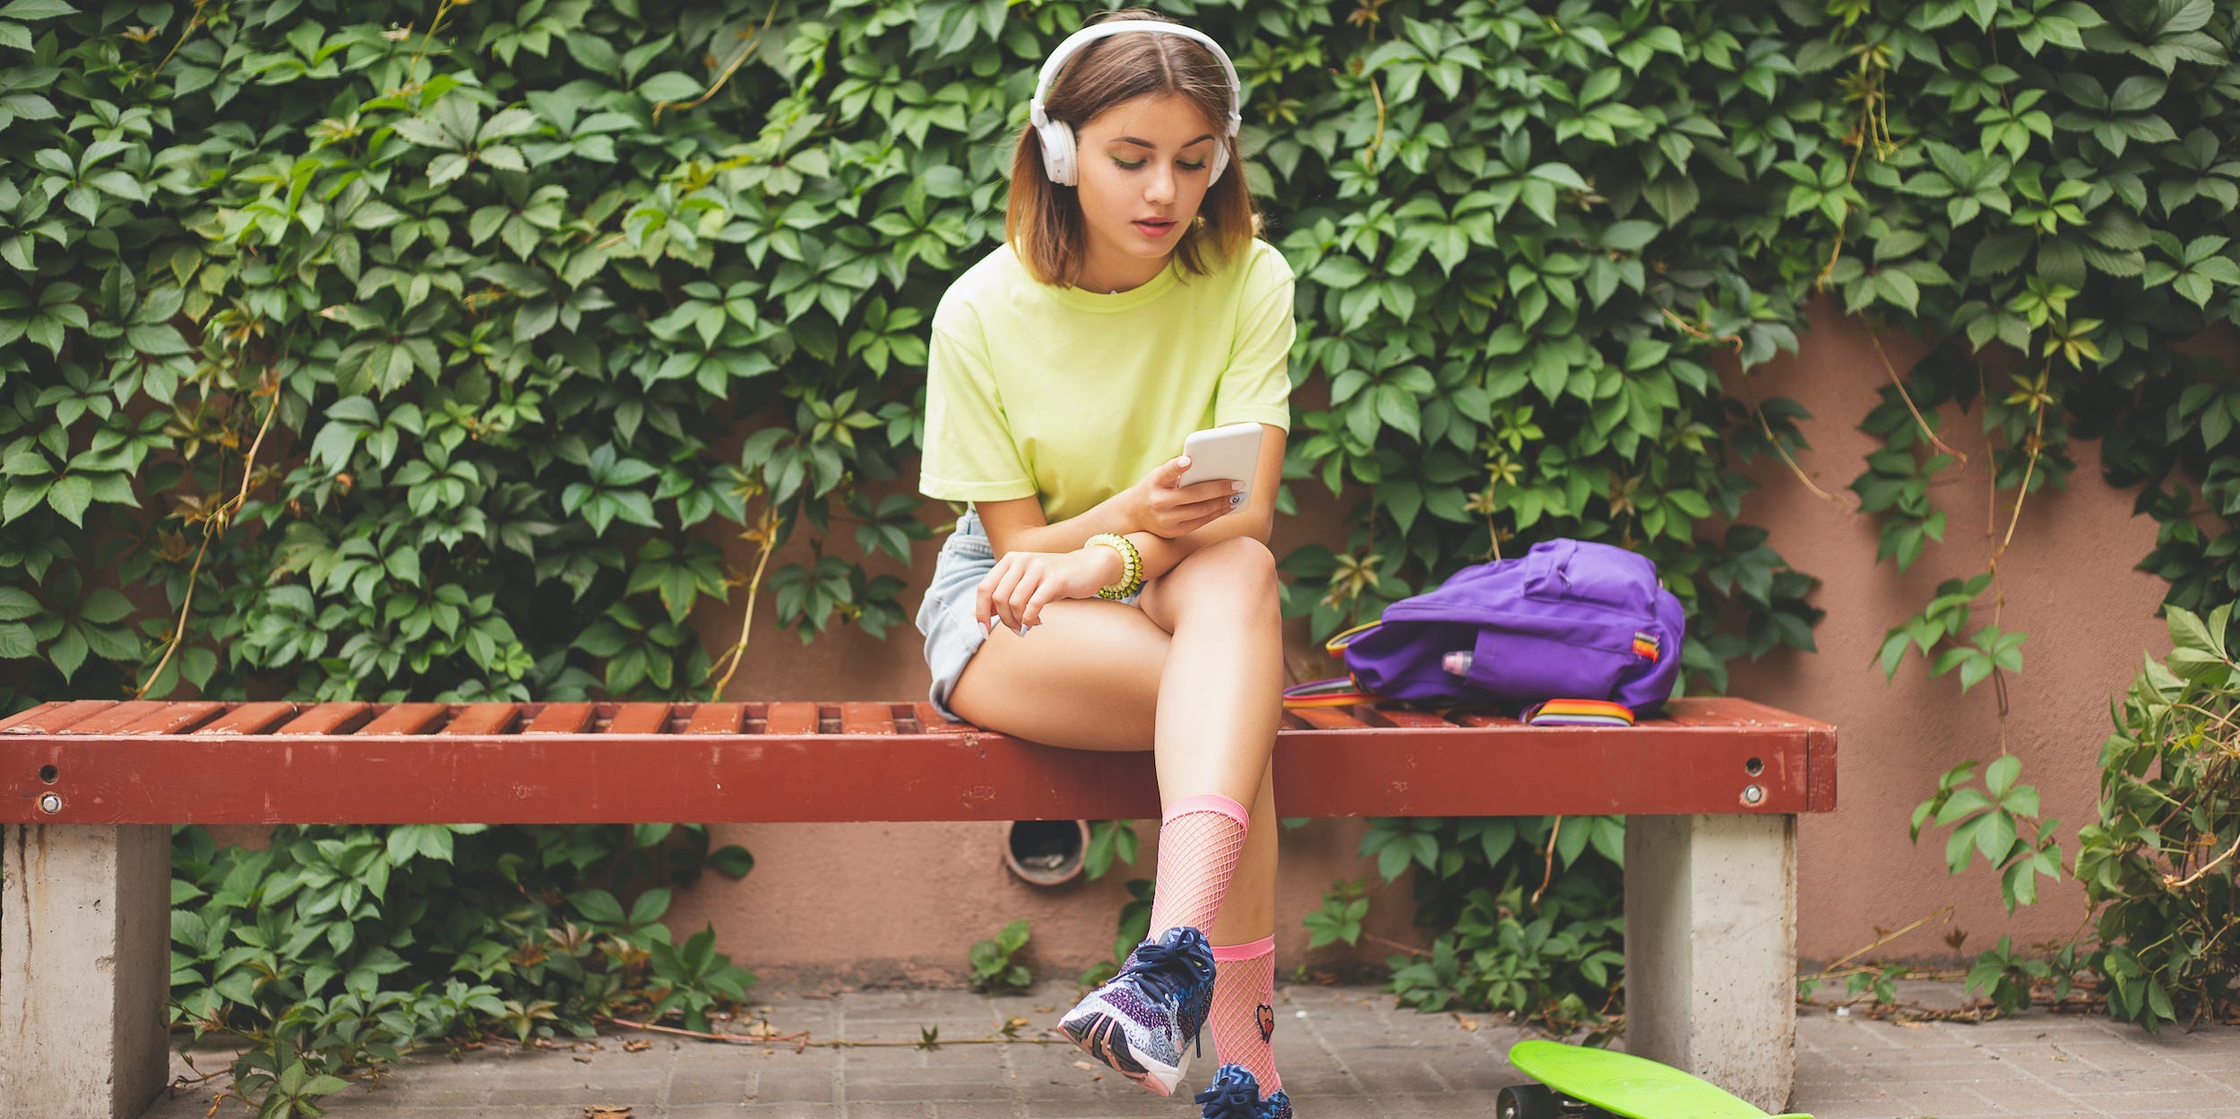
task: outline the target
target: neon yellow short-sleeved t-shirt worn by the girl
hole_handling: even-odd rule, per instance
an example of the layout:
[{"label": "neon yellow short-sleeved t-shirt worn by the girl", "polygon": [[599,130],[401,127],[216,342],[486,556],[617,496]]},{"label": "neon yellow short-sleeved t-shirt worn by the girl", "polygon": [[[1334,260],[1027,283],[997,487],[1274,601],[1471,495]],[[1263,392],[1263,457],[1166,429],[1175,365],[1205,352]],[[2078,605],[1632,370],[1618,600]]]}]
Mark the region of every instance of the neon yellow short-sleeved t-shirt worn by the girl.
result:
[{"label": "neon yellow short-sleeved t-shirt worn by the girl", "polygon": [[1042,284],[1010,246],[934,311],[918,490],[1039,497],[1057,524],[1223,423],[1290,430],[1290,264],[1252,239],[1212,275],[1167,264],[1118,295]]}]

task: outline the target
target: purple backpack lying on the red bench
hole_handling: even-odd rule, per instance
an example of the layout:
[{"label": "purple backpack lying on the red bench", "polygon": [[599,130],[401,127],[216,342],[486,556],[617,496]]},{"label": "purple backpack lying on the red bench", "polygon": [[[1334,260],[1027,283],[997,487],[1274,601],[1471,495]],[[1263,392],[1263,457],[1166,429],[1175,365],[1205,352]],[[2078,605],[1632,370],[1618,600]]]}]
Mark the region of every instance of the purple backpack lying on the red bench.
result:
[{"label": "purple backpack lying on the red bench", "polygon": [[1454,573],[1331,642],[1353,680],[1427,705],[1615,700],[1649,714],[1671,698],[1687,620],[1644,555],[1548,539],[1516,560]]}]

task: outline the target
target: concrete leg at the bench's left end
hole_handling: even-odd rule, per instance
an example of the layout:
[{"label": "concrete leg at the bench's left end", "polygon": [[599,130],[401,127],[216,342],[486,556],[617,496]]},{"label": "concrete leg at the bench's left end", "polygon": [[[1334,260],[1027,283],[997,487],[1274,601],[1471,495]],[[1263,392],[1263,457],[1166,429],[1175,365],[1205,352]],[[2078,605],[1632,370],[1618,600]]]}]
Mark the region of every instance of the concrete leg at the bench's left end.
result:
[{"label": "concrete leg at the bench's left end", "polygon": [[170,828],[9,824],[0,1115],[132,1119],[164,1088]]}]

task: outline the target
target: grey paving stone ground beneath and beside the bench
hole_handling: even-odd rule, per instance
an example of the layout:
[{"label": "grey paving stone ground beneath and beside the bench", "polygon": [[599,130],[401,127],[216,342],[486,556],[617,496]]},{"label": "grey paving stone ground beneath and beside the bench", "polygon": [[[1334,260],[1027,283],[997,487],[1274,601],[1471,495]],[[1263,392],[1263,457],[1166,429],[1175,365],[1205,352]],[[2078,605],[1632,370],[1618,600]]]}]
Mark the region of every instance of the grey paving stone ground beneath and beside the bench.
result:
[{"label": "grey paving stone ground beneath and beside the bench", "polygon": [[[1956,989],[1915,985],[1922,1003]],[[1084,1068],[1071,1045],[1039,1045],[1075,989],[1026,996],[851,991],[768,998],[764,1021],[809,1041],[717,1045],[612,1034],[562,1050],[484,1047],[412,1059],[379,1088],[329,1097],[334,1119],[1109,1119],[1194,1117]],[[1501,1054],[1528,1036],[1496,1018],[1396,1009],[1375,987],[1281,987],[1277,1061],[1301,1119],[1490,1119],[1494,1092],[1519,1076]],[[1010,1018],[1021,1041],[990,1038]],[[728,1029],[741,1029],[732,1023]],[[916,1043],[939,1029],[941,1047]],[[650,1045],[638,1047],[638,1041]],[[627,1047],[625,1047],[627,1043]],[[224,1054],[202,1054],[215,1068]],[[175,1072],[186,1072],[172,1059]],[[1212,1054],[1187,1090],[1203,1088]],[[202,1119],[211,1090],[179,1090],[143,1119]],[[1180,1094],[1180,1092],[1178,1092]],[[627,1112],[618,1108],[629,1108]],[[2240,1119],[2240,1029],[2153,1038],[2106,1018],[2032,1012],[1956,1025],[1893,1025],[1830,1009],[1796,1023],[1794,1110],[1819,1119],[2157,1117]],[[217,1115],[246,1115],[226,1103]]]}]

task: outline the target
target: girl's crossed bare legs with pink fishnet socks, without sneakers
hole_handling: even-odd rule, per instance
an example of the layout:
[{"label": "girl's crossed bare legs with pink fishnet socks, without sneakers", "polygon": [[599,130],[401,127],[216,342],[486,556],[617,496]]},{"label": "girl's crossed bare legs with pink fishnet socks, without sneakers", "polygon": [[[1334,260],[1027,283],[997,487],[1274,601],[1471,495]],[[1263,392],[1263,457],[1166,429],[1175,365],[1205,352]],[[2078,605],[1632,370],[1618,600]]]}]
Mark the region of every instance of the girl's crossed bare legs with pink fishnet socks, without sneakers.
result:
[{"label": "girl's crossed bare legs with pink fishnet socks, without sneakers", "polygon": [[[1272,754],[1284,687],[1275,557],[1259,539],[1221,539],[1151,580],[1136,602],[1051,602],[1026,636],[997,627],[959,676],[950,707],[1044,745],[1156,750],[1169,819],[1151,935],[1212,915],[1201,929],[1219,960],[1207,1029],[1219,1059],[1252,1070],[1270,1094],[1279,1088],[1268,1045],[1279,830]],[[1221,841],[1216,812],[1189,812],[1214,803],[1207,797],[1250,812],[1241,850]]]}]

